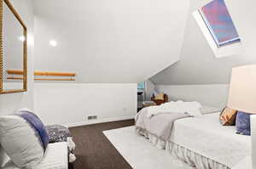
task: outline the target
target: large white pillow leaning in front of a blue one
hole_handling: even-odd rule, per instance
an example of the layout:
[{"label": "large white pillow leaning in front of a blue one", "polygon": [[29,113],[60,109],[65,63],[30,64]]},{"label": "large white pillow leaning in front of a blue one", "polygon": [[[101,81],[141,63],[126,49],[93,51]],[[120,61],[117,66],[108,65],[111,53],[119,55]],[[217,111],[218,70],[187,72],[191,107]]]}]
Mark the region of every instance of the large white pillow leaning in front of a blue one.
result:
[{"label": "large white pillow leaning in front of a blue one", "polygon": [[0,117],[0,143],[16,166],[33,169],[44,156],[32,127],[18,115]]}]

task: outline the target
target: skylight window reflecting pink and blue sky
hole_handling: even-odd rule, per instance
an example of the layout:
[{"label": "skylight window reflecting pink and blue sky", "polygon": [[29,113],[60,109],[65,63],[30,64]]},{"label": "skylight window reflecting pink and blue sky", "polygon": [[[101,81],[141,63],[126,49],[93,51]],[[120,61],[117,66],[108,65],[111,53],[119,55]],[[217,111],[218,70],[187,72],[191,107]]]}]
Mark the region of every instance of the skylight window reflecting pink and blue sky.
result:
[{"label": "skylight window reflecting pink and blue sky", "polygon": [[199,11],[218,48],[241,42],[224,0],[213,0]]}]

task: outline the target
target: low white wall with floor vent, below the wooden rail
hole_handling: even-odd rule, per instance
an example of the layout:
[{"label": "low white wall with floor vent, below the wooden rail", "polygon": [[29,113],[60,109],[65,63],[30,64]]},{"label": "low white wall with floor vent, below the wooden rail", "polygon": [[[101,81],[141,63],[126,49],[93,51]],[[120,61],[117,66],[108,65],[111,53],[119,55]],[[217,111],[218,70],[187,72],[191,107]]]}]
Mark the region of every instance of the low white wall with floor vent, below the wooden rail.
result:
[{"label": "low white wall with floor vent, below the wooden rail", "polygon": [[[131,119],[137,84],[35,83],[34,107],[46,124],[69,127]],[[88,115],[98,115],[98,121],[87,121]]]}]

